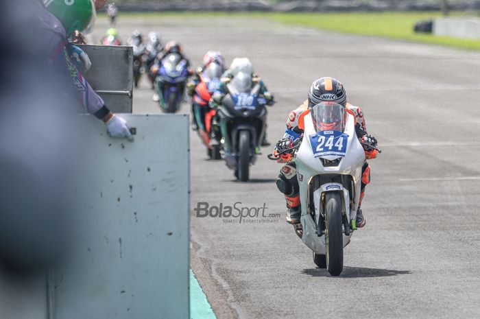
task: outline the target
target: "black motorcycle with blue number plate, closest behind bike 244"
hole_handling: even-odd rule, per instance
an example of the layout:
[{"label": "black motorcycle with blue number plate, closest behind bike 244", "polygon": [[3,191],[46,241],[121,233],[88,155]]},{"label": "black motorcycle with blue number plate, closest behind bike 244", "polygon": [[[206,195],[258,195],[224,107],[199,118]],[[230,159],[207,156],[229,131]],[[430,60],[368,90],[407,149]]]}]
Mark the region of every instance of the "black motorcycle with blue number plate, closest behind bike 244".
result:
[{"label": "black motorcycle with blue number plate, closest behind bike 244", "polygon": [[267,99],[260,93],[260,84],[252,87],[252,75],[243,71],[235,75],[227,88],[217,110],[222,152],[226,165],[235,170],[235,177],[246,182],[265,135]]}]

